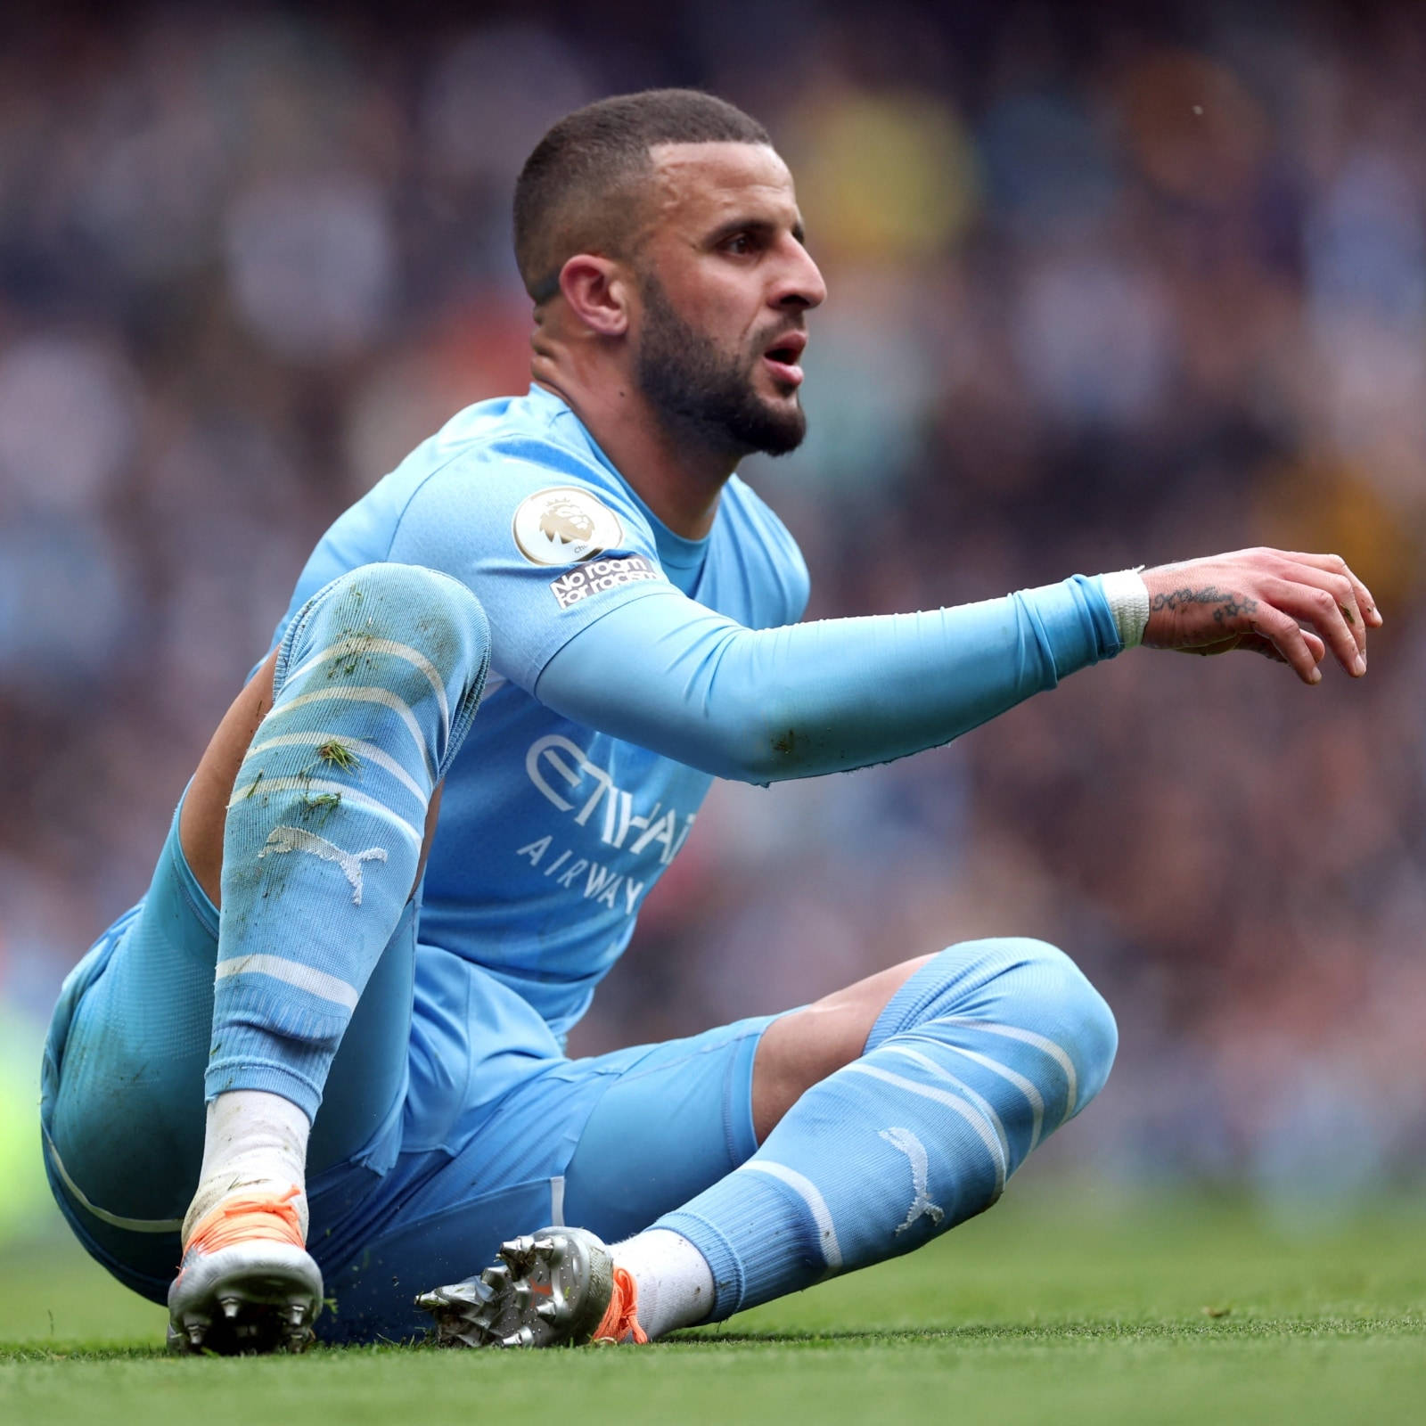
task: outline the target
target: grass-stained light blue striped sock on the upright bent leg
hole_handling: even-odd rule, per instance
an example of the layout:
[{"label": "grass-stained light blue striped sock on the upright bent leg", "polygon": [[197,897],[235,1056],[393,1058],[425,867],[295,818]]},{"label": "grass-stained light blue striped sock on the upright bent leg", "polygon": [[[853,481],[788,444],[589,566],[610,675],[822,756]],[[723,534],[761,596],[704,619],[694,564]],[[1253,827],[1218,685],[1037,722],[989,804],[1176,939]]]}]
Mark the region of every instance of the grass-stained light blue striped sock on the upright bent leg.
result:
[{"label": "grass-stained light blue striped sock on the upright bent leg", "polygon": [[489,650],[475,596],[409,565],[342,575],[292,620],[228,804],[208,1099],[262,1089],[315,1117]]}]

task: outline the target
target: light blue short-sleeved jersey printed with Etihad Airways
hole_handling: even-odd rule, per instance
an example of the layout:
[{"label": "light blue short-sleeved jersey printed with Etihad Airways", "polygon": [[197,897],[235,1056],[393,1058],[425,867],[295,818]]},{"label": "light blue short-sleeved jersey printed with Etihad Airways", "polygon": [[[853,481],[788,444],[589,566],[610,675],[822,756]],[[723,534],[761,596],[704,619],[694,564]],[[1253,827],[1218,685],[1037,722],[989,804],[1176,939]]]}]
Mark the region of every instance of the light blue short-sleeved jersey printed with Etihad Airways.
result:
[{"label": "light blue short-sleeved jersey printed with Etihad Airways", "polygon": [[[706,539],[666,529],[539,386],[468,406],[347,511],[277,639],[331,579],[384,560],[459,579],[491,622],[491,676],[445,781],[421,941],[488,971],[562,1038],[627,945],[712,779],[550,712],[535,697],[540,673],[612,609],[672,590],[750,629],[794,623],[807,566],[736,476]],[[438,965],[418,960],[428,1004],[445,988],[422,994],[419,980]]]}]

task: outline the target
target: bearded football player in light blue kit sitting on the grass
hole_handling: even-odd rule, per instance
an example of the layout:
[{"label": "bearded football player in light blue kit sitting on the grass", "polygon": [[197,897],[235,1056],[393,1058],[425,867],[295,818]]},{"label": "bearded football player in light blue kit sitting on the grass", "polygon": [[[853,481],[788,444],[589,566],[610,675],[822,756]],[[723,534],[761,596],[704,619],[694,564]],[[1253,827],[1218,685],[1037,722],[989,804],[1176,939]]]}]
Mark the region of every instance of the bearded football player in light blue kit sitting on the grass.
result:
[{"label": "bearded football player in light blue kit sitting on the grass", "polygon": [[175,1349],[301,1346],[324,1291],[334,1340],[411,1336],[421,1292],[448,1342],[643,1342],[984,1211],[1114,1058],[1042,943],[565,1057],[712,779],[904,757],[1138,643],[1362,674],[1380,623],[1336,556],[1258,549],[797,625],[734,473],[801,441],[826,297],[764,130],[680,90],[570,114],[515,250],[529,392],[322,538],[54,1015],[56,1198]]}]

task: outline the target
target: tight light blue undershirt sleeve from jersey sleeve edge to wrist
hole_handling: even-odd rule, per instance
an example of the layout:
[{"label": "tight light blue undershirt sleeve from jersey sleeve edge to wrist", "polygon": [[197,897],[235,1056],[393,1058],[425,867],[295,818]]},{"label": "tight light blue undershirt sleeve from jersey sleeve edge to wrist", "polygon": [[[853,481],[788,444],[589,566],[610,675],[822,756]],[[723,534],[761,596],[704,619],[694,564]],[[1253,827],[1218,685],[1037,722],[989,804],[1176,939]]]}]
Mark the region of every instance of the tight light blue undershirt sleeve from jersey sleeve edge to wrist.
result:
[{"label": "tight light blue undershirt sleeve from jersey sleeve edge to wrist", "polygon": [[757,630],[677,599],[592,625],[550,660],[538,696],[753,783],[938,747],[1122,647],[1099,580],[1082,575],[955,609]]}]

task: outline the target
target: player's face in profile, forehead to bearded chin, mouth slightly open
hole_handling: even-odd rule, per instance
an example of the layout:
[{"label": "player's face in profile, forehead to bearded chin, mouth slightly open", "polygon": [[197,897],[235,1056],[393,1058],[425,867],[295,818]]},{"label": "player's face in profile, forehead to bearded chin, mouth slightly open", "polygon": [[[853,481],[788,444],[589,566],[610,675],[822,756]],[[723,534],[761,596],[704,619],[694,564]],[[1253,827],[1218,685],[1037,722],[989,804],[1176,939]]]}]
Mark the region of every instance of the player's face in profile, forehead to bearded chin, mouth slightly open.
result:
[{"label": "player's face in profile, forehead to bearded chin, mouth slightly open", "polygon": [[739,453],[807,431],[806,314],[827,295],[791,174],[761,144],[662,144],[642,235],[636,379],[670,424]]}]

